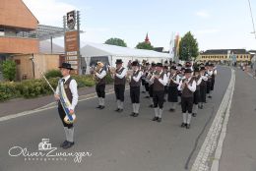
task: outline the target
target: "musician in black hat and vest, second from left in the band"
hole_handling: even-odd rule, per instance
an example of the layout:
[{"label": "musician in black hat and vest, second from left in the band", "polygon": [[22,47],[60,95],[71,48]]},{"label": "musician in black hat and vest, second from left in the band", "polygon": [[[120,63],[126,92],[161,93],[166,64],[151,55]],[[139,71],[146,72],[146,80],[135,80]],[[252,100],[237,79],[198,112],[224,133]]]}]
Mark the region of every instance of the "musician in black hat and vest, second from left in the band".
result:
[{"label": "musician in black hat and vest, second from left in the band", "polygon": [[123,67],[123,61],[117,59],[116,62],[116,71],[114,76],[114,92],[116,96],[117,109],[116,112],[123,111],[123,102],[124,102],[124,90],[126,83],[126,74],[127,69]]}]

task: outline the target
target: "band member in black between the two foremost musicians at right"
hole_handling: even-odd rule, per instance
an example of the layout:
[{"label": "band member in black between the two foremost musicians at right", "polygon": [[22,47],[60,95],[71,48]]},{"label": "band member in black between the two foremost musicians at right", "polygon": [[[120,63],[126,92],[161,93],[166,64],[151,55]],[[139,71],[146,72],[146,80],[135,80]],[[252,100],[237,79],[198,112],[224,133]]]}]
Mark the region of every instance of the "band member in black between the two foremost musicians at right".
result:
[{"label": "band member in black between the two foremost musicians at right", "polygon": [[170,112],[174,112],[178,102],[178,85],[179,76],[175,66],[170,68],[169,84],[168,84],[168,101],[170,102]]}]

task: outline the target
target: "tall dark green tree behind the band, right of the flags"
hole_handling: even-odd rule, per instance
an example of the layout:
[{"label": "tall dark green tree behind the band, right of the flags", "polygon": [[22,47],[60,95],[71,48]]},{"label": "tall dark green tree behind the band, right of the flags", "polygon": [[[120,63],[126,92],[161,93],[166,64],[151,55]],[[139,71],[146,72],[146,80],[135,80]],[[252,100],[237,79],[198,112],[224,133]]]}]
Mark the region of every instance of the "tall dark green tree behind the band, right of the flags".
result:
[{"label": "tall dark green tree behind the band, right of the flags", "polygon": [[190,61],[192,57],[196,58],[199,55],[197,39],[188,31],[180,40],[179,43],[179,59]]}]

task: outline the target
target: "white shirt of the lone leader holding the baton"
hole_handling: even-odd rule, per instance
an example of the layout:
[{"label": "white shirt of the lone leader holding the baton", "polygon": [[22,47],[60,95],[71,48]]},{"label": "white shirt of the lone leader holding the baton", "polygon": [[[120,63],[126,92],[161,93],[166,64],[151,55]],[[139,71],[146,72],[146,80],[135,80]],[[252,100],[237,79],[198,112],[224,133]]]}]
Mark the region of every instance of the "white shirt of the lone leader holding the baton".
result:
[{"label": "white shirt of the lone leader holding the baton", "polygon": [[[62,79],[65,79],[65,82],[67,82],[69,78],[70,78],[70,75]],[[61,84],[63,85],[63,82],[61,82]],[[71,106],[69,107],[69,110],[75,110],[75,107],[78,104],[78,84],[74,79],[70,82],[69,88],[72,93],[72,102],[71,102]],[[55,93],[59,95],[59,86],[57,86]]]}]

